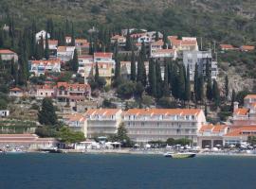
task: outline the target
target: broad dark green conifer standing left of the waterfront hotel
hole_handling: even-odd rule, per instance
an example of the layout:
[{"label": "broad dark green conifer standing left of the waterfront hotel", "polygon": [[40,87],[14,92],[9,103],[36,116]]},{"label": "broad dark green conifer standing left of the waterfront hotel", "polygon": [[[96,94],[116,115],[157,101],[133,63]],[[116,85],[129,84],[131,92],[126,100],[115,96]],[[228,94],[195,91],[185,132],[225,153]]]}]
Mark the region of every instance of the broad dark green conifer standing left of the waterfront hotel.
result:
[{"label": "broad dark green conifer standing left of the waterfront hotel", "polygon": [[58,123],[51,98],[44,98],[42,109],[38,112],[38,121],[42,125],[53,126]]}]

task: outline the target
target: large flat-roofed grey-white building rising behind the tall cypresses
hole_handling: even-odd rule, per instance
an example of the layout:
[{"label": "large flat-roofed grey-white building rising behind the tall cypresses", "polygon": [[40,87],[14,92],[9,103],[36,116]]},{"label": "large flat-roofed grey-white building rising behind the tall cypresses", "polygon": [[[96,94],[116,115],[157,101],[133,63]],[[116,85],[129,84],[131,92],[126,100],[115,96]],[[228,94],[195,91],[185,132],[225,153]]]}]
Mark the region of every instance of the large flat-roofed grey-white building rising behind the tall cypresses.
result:
[{"label": "large flat-roofed grey-white building rising behind the tall cypresses", "polygon": [[206,76],[207,63],[210,64],[211,79],[216,79],[218,76],[217,62],[212,60],[211,51],[183,51],[183,64],[187,68],[190,66],[191,81],[194,78],[195,65],[198,66],[199,75]]}]

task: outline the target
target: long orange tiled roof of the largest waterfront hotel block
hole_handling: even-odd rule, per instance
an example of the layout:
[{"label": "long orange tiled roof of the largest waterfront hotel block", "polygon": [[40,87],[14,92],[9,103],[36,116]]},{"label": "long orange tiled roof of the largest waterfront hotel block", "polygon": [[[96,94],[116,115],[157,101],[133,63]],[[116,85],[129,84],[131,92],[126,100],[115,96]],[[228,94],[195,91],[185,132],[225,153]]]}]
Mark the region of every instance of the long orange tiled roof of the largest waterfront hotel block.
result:
[{"label": "long orange tiled roof of the largest waterfront hotel block", "polygon": [[129,109],[123,115],[197,115],[200,112],[199,109]]}]

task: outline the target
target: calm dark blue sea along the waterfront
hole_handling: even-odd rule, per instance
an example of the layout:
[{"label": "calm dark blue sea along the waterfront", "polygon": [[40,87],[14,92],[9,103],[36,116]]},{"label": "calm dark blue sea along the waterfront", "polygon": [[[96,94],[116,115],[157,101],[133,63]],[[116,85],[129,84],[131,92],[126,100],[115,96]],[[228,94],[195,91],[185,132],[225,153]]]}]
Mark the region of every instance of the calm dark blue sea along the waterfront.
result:
[{"label": "calm dark blue sea along the waterfront", "polygon": [[256,189],[256,158],[0,155],[0,189]]}]

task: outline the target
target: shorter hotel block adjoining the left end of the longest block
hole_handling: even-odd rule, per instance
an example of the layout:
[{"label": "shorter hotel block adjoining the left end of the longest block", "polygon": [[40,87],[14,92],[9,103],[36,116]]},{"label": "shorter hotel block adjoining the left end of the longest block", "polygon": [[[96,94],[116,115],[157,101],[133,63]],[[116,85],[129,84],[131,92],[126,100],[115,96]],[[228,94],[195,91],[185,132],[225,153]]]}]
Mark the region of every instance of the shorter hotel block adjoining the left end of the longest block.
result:
[{"label": "shorter hotel block adjoining the left end of the longest block", "polygon": [[91,109],[85,112],[87,138],[117,133],[121,122],[120,109]]}]

